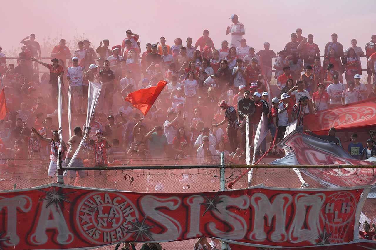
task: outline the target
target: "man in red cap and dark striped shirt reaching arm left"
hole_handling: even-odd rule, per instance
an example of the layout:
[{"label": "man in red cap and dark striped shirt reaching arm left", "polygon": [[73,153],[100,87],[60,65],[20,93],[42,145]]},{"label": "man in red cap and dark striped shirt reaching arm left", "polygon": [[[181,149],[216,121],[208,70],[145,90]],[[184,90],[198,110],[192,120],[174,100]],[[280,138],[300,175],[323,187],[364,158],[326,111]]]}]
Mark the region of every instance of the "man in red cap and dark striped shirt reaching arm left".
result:
[{"label": "man in red cap and dark striped shirt reaching arm left", "polygon": [[235,154],[236,149],[238,147],[238,139],[237,139],[237,134],[238,134],[238,129],[239,129],[238,115],[236,113],[235,108],[232,106],[229,106],[225,100],[222,100],[220,102],[219,107],[226,110],[224,113],[224,119],[217,124],[213,124],[213,127],[218,127],[224,124],[226,120],[229,123],[227,125],[227,136],[228,136],[231,151],[232,151],[232,153],[229,155],[232,156]]}]

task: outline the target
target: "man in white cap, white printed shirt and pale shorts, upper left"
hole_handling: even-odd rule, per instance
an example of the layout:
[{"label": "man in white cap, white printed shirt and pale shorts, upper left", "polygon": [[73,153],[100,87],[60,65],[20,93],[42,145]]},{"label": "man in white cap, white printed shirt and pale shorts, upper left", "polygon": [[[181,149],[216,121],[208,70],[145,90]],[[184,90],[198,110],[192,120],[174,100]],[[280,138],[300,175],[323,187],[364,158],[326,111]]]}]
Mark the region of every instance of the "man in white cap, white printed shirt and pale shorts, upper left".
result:
[{"label": "man in white cap, white printed shirt and pale shorts, upper left", "polygon": [[77,92],[78,95],[78,107],[77,113],[82,114],[82,96],[83,96],[83,89],[82,89],[82,80],[83,80],[83,67],[78,65],[78,57],[72,57],[73,65],[68,67],[67,70],[67,80],[71,86],[71,95],[73,96],[74,92]]}]

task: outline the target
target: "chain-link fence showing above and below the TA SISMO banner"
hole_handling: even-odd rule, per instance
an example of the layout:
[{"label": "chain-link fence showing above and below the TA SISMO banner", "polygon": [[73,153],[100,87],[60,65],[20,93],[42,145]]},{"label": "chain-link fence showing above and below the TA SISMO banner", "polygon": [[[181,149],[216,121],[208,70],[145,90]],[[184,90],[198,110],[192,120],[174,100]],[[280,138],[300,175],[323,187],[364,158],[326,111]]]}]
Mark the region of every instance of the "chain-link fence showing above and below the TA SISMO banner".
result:
[{"label": "chain-link fence showing above and below the TA SISMO banner", "polygon": [[[197,159],[196,159],[197,160]],[[46,169],[49,164],[24,163],[19,161],[16,166],[3,165],[0,168],[1,190],[31,188],[39,185],[56,182],[56,176],[47,177]],[[140,162],[141,163],[141,162]],[[150,162],[152,163],[152,162]],[[193,161],[192,161],[193,163]],[[146,162],[144,161],[145,165]],[[163,164],[153,163],[153,166],[121,166],[116,170],[83,170],[77,172],[77,178],[65,177],[65,184],[82,187],[108,188],[135,192],[207,192],[221,190],[221,165],[213,162],[213,165],[205,166],[159,166]],[[90,165],[86,165],[90,167]],[[158,166],[158,167],[156,167]],[[224,182],[232,189],[247,188],[251,185],[264,184],[269,187],[287,188],[319,188],[319,187],[350,187],[356,185],[370,185],[376,180],[376,173],[373,168],[300,168],[292,166],[270,166],[255,168],[248,173],[241,175],[247,169],[245,166],[232,165],[225,162]],[[322,166],[324,167],[324,166]],[[159,169],[155,169],[159,168]],[[80,176],[80,174],[82,176]],[[73,172],[68,176],[74,176]],[[241,177],[240,177],[241,176]],[[305,185],[304,185],[305,184]],[[376,190],[376,189],[375,189]],[[364,221],[376,224],[374,210],[376,204],[376,192],[371,189],[364,204],[360,223]],[[164,249],[191,250],[197,240],[176,241],[162,243]],[[209,240],[210,241],[210,240]],[[136,245],[140,249],[142,244]],[[221,249],[218,243],[216,248]],[[100,250],[114,249],[114,246],[97,248]],[[121,248],[120,248],[121,249]]]}]

